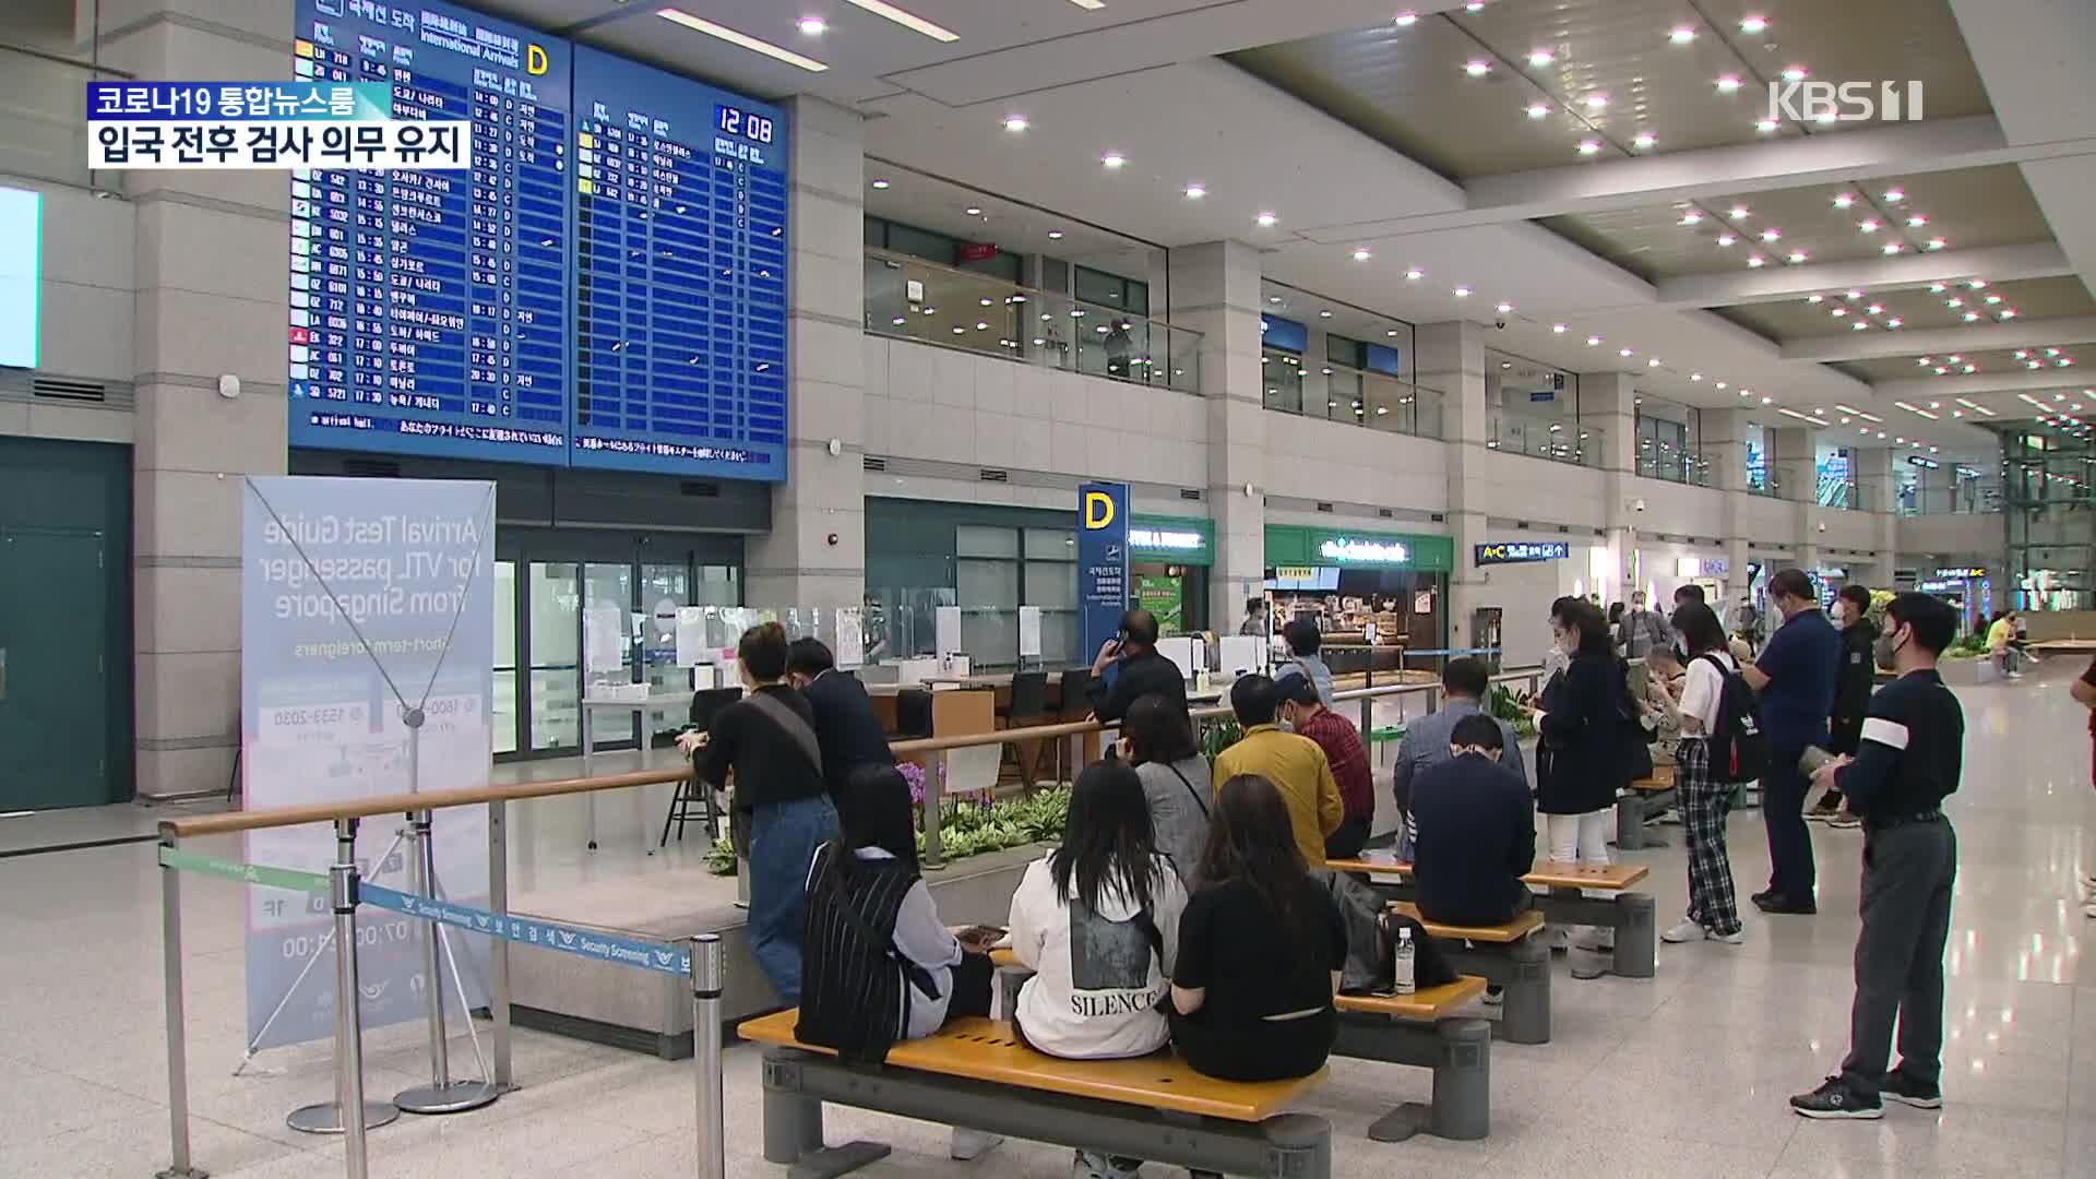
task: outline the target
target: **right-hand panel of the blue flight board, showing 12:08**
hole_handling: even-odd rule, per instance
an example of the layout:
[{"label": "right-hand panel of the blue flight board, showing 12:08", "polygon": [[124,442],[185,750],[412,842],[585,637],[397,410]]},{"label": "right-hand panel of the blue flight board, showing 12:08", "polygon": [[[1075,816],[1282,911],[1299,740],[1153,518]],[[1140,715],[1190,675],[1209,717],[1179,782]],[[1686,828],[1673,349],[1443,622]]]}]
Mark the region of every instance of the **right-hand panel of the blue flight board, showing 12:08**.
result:
[{"label": "right-hand panel of the blue flight board, showing 12:08", "polygon": [[574,50],[574,466],[786,478],[786,117]]}]

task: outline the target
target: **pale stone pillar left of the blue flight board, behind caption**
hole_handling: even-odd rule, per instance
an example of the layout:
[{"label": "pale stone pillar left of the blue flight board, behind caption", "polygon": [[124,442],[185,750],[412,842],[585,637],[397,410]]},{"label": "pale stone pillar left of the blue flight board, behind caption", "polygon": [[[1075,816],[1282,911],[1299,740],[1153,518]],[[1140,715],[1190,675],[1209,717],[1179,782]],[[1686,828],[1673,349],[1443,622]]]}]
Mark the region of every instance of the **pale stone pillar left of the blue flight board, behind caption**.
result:
[{"label": "pale stone pillar left of the blue flight board, behind caption", "polygon": [[[103,0],[101,61],[140,80],[285,78],[289,8]],[[115,176],[109,176],[115,180]],[[132,445],[138,793],[224,791],[241,728],[241,476],[285,470],[291,185],[124,172],[138,208]],[[237,399],[218,378],[241,378]]]}]

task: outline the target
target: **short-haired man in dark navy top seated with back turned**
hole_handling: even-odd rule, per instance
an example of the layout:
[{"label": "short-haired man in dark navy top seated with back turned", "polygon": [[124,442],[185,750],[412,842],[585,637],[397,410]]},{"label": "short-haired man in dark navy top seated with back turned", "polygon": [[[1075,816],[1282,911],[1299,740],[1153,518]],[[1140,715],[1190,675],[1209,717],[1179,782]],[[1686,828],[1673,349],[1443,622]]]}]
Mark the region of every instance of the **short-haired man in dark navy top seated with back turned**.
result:
[{"label": "short-haired man in dark navy top seated with back turned", "polygon": [[1534,904],[1522,877],[1536,862],[1536,808],[1499,764],[1503,749],[1499,722],[1471,713],[1448,734],[1448,762],[1413,783],[1413,881],[1427,921],[1499,925]]}]

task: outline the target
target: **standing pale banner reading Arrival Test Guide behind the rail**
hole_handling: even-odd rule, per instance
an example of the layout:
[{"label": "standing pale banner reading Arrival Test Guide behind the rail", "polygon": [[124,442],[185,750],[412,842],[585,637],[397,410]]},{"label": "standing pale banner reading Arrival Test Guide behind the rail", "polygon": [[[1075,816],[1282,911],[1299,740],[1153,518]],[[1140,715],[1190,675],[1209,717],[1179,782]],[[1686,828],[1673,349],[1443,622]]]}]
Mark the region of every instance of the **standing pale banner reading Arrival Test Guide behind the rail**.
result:
[{"label": "standing pale banner reading Arrival Test Guide behind the rail", "polygon": [[[243,499],[245,806],[484,787],[493,749],[495,485],[256,476]],[[419,783],[402,701],[425,713]],[[367,818],[356,858],[367,881],[411,892],[407,843],[394,845],[400,827],[400,818]],[[440,896],[484,902],[486,808],[436,812],[434,835]],[[249,864],[327,873],[333,858],[331,824],[247,835]],[[260,1036],[258,1047],[333,1034],[329,929],[325,894],[247,889],[247,1034]],[[428,986],[444,986],[457,1001],[449,978],[425,978],[409,917],[367,908],[356,942],[367,1026],[421,1017]],[[453,936],[451,948],[470,1001],[486,1003],[486,942]],[[308,971],[314,957],[321,961]]]}]

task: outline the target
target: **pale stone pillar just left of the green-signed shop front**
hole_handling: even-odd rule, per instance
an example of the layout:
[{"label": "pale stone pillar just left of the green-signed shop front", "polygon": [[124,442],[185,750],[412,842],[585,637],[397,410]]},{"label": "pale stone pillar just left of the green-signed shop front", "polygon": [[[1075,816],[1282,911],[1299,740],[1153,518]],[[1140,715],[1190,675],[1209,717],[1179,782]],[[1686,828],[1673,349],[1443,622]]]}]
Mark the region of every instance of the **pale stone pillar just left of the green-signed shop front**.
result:
[{"label": "pale stone pillar just left of the green-signed shop front", "polygon": [[1260,252],[1209,241],[1172,252],[1165,315],[1201,334],[1207,499],[1216,518],[1211,619],[1239,619],[1266,583],[1266,403],[1260,384]]}]

